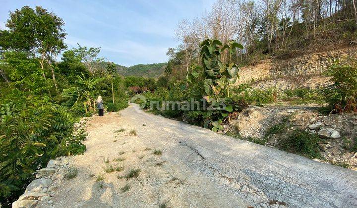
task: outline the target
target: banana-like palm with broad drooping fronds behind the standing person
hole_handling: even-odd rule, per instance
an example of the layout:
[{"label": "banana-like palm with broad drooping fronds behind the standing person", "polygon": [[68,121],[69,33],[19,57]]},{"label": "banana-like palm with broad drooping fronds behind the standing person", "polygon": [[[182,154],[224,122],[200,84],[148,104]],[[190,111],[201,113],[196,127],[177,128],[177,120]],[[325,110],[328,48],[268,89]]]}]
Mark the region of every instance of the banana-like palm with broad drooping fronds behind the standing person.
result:
[{"label": "banana-like palm with broad drooping fronds behind the standing person", "polygon": [[[100,95],[100,93],[104,93],[105,90],[97,90],[95,86],[105,80],[105,77],[88,77],[85,79],[84,74],[82,76],[77,75],[78,79],[75,80],[77,83],[77,87],[71,87],[66,90],[63,90],[61,95],[63,97],[75,98],[76,102],[73,104],[72,108],[79,104],[80,102],[84,105],[86,113],[89,110],[96,110],[95,107],[95,98]],[[88,105],[88,108],[87,108]]]}]

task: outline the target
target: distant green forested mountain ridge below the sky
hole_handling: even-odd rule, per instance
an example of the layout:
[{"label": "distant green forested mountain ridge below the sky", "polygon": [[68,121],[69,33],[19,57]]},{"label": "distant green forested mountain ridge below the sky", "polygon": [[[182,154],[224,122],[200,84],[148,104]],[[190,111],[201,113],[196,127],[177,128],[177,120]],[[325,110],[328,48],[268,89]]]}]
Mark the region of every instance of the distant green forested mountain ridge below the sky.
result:
[{"label": "distant green forested mountain ridge below the sky", "polygon": [[164,73],[166,65],[167,63],[151,63],[125,67],[117,64],[117,70],[118,73],[123,76],[158,78]]}]

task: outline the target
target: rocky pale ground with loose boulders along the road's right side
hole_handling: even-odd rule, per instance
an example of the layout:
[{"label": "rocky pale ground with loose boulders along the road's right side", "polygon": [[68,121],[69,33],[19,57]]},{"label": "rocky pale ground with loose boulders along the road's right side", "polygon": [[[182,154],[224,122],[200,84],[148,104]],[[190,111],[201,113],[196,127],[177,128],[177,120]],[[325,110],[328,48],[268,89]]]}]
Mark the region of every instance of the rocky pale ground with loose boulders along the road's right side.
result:
[{"label": "rocky pale ground with loose boulders along the road's right side", "polygon": [[242,138],[265,137],[267,130],[289,118],[288,128],[268,137],[266,146],[277,147],[281,136],[294,129],[306,130],[320,138],[322,162],[357,170],[357,115],[352,113],[323,115],[316,105],[249,107],[231,119],[226,130],[238,133]]}]

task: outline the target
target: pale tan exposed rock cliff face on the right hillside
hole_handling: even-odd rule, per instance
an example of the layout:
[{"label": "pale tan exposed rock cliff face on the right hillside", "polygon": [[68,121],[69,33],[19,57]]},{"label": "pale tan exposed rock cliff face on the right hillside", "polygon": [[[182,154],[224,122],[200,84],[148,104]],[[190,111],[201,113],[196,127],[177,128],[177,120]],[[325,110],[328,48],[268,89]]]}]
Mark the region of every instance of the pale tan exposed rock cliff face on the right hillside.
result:
[{"label": "pale tan exposed rock cliff face on the right hillside", "polygon": [[236,85],[251,83],[256,88],[277,87],[281,90],[319,88],[329,80],[322,73],[335,60],[347,56],[356,57],[357,47],[317,52],[285,60],[268,59],[254,66],[240,68]]}]

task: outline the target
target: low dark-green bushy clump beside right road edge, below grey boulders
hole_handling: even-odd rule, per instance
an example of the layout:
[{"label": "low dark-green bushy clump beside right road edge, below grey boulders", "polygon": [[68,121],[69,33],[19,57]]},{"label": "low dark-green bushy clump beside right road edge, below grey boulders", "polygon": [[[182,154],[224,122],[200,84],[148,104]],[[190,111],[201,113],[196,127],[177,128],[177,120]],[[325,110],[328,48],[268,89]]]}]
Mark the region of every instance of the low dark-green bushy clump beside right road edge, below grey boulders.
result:
[{"label": "low dark-green bushy clump beside right road edge, below grey boulders", "polygon": [[286,138],[282,138],[278,146],[287,152],[308,158],[320,158],[319,141],[320,138],[316,134],[296,129]]}]

